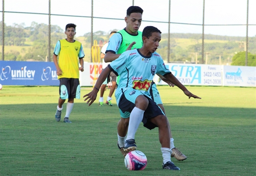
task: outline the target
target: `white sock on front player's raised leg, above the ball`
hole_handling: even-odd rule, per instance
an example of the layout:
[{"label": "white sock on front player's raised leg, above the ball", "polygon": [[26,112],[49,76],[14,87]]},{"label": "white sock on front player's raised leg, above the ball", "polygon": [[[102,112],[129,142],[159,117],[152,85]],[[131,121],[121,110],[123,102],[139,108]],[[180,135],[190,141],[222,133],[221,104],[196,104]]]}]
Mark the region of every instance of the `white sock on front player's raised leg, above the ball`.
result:
[{"label": "white sock on front player's raised leg, above the ball", "polygon": [[126,140],[134,139],[135,133],[137,129],[139,128],[139,124],[143,119],[144,110],[141,110],[137,107],[134,107],[131,114],[130,114],[130,120],[129,120],[129,126],[128,126],[128,133]]}]

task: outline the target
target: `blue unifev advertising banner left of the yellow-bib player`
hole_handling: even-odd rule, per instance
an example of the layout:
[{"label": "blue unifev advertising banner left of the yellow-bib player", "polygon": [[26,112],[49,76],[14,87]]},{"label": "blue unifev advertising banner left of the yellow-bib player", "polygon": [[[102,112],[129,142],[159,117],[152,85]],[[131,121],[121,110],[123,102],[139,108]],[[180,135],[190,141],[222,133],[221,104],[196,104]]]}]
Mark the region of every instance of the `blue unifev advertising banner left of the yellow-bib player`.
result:
[{"label": "blue unifev advertising banner left of the yellow-bib player", "polygon": [[59,85],[53,62],[0,61],[2,85]]}]

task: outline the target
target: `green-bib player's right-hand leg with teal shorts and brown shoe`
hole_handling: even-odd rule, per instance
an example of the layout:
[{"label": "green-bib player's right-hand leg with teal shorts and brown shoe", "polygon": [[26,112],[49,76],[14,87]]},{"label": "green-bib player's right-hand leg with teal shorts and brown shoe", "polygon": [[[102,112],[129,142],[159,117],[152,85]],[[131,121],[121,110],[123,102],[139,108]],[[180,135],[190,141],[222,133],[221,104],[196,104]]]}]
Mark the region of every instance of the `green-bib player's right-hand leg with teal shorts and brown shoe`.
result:
[{"label": "green-bib player's right-hand leg with teal shorts and brown shoe", "polygon": [[[152,84],[151,90],[152,90],[152,95],[151,96],[154,98],[154,102],[161,108],[161,110],[164,112],[164,114],[166,114],[165,108],[163,106],[162,99],[160,97],[160,94],[158,92],[156,84]],[[167,119],[167,121],[168,121],[168,119]],[[174,142],[173,142],[174,139],[173,139],[173,136],[172,136],[172,131],[171,131],[169,121],[168,121],[168,125],[169,125],[169,131],[170,131],[170,147],[171,147],[171,150],[172,150],[171,157],[176,158],[178,161],[183,161],[183,160],[187,159],[187,157],[184,154],[182,154],[176,147],[174,147]]]}]

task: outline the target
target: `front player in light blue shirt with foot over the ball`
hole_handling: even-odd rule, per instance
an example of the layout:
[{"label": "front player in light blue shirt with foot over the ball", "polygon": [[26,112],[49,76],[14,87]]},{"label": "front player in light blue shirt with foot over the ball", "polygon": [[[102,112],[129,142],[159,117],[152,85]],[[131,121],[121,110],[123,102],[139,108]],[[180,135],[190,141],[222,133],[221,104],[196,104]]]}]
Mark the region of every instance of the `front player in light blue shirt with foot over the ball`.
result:
[{"label": "front player in light blue shirt with foot over the ball", "polygon": [[111,62],[98,77],[94,90],[83,96],[86,97],[84,101],[88,100],[89,106],[95,101],[98,89],[111,71],[120,75],[116,91],[117,104],[121,113],[131,113],[124,150],[132,151],[137,148],[135,133],[142,121],[144,126],[149,129],[159,128],[159,141],[163,157],[162,168],[180,170],[171,162],[172,150],[170,149],[170,129],[167,117],[151,99],[149,93],[154,75],[161,74],[189,98],[201,98],[189,92],[166,68],[161,56],[155,52],[161,40],[161,31],[153,26],[147,26],[143,29],[142,36],[142,48],[125,51],[118,59]]}]

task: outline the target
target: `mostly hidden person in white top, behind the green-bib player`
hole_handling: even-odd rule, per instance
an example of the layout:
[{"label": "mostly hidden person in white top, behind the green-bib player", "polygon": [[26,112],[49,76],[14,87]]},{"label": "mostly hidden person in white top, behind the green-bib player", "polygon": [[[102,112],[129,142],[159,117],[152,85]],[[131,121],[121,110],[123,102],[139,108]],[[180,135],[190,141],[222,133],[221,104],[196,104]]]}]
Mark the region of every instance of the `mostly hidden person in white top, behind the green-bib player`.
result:
[{"label": "mostly hidden person in white top, behind the green-bib player", "polygon": [[[117,31],[111,31],[110,33],[110,37],[112,37],[115,33],[117,33]],[[102,50],[101,50],[101,59],[104,59],[104,56],[105,56],[105,51],[108,47],[108,44],[109,43],[106,43],[104,44],[104,46],[102,47]],[[102,66],[103,65],[106,65],[105,62],[102,63]],[[106,66],[102,67],[103,69],[105,68]],[[115,73],[111,72],[110,73],[110,77],[111,77],[111,81],[112,81],[112,87],[110,88],[110,91],[109,91],[109,96],[107,98],[107,101],[106,101],[106,104],[109,105],[109,106],[113,106],[112,103],[111,103],[111,100],[112,100],[112,95],[116,89],[116,84],[117,84],[117,76],[115,75]],[[104,92],[105,92],[105,88],[106,88],[106,85],[108,84],[108,78],[103,82],[102,86],[101,86],[101,95],[100,95],[100,99],[99,99],[99,106],[103,106],[103,95],[104,95]]]}]

